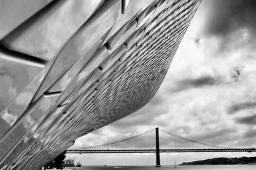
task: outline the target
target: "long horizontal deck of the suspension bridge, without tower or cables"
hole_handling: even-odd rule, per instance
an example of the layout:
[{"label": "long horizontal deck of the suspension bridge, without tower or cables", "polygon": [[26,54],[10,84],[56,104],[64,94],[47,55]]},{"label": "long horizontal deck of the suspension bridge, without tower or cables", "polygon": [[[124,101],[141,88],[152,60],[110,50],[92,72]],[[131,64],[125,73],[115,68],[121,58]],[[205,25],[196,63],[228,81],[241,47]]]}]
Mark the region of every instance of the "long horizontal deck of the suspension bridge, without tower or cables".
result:
[{"label": "long horizontal deck of the suspension bridge, without tower or cables", "polygon": [[[255,148],[244,149],[160,149],[160,153],[182,152],[256,152]],[[67,150],[67,153],[156,153],[155,149],[149,150]]]}]

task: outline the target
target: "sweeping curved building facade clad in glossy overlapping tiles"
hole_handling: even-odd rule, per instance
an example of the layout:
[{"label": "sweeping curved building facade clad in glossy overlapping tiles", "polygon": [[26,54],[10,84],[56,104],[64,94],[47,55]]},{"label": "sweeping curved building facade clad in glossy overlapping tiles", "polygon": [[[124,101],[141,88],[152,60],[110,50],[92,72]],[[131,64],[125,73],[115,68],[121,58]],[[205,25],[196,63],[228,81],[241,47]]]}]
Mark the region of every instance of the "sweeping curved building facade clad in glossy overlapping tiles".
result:
[{"label": "sweeping curved building facade clad in glossy overlapping tiles", "polygon": [[38,169],[149,102],[199,3],[0,1],[0,170]]}]

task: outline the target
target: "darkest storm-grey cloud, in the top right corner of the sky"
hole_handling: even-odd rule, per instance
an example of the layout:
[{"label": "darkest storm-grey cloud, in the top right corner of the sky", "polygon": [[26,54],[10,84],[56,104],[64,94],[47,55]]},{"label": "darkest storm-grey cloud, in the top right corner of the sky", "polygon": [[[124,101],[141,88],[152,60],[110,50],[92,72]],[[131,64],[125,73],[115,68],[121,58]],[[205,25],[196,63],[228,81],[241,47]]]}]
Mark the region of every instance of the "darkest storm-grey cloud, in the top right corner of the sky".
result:
[{"label": "darkest storm-grey cloud, in the top right corner of the sky", "polygon": [[226,37],[245,28],[256,33],[255,0],[203,0],[208,15],[204,34]]}]

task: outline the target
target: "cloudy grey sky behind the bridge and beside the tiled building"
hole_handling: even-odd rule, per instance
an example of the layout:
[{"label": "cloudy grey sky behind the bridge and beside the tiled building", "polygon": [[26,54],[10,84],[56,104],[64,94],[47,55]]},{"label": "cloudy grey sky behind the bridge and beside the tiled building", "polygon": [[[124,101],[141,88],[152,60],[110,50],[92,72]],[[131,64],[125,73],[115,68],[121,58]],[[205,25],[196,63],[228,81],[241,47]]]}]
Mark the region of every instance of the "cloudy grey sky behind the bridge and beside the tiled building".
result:
[{"label": "cloudy grey sky behind the bridge and beside the tiled building", "polygon": [[[80,137],[107,143],[159,127],[203,143],[256,148],[256,1],[202,0],[156,96]],[[154,153],[67,154],[82,165],[154,165]],[[161,153],[161,164],[256,153]]]}]

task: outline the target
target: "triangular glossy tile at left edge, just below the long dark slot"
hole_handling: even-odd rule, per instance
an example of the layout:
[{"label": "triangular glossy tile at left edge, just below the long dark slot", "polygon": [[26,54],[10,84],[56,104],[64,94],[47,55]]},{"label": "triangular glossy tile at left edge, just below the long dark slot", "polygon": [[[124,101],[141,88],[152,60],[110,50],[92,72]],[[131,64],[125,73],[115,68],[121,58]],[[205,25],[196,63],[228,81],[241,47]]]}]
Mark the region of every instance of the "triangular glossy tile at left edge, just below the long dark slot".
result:
[{"label": "triangular glossy tile at left edge, just below the long dark slot", "polygon": [[0,49],[0,112],[43,68],[43,63],[26,55]]}]

